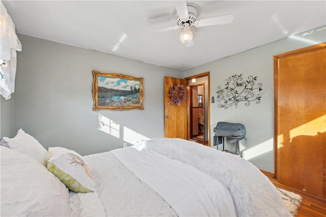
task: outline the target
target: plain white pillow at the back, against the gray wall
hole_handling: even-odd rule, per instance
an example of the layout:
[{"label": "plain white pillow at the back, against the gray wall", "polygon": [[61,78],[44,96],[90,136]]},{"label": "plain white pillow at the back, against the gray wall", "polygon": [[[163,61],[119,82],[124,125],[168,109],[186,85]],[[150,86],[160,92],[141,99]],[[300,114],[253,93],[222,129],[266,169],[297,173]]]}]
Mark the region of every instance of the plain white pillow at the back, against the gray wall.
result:
[{"label": "plain white pillow at the back, against the gray wall", "polygon": [[47,165],[47,150],[33,136],[21,129],[14,138],[4,137],[1,140],[1,145],[27,154],[44,166]]}]

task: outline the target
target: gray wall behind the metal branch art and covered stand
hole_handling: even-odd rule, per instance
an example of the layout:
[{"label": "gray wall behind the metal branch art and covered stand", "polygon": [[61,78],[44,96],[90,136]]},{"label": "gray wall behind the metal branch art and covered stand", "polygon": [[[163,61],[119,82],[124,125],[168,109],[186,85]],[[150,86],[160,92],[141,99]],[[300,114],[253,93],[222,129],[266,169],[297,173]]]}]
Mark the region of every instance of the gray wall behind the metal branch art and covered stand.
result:
[{"label": "gray wall behind the metal branch art and covered stand", "polygon": [[[325,27],[325,26],[323,26]],[[317,28],[322,29],[322,28]],[[315,42],[325,42],[325,28],[306,37]],[[301,36],[301,34],[298,34]],[[310,38],[309,38],[310,37]],[[232,56],[225,57],[203,66],[184,71],[184,77],[210,72],[210,95],[215,97],[215,103],[210,104],[211,146],[213,145],[213,128],[219,121],[242,123],[246,127],[247,142],[240,143],[243,158],[251,161],[262,170],[274,172],[274,66],[275,54],[311,46],[312,41],[300,41],[291,38],[282,39]],[[260,104],[251,103],[244,106],[239,103],[237,108],[218,108],[216,102],[217,87],[225,87],[226,79],[232,75],[242,74],[243,80],[248,76],[257,76],[257,82],[262,83]],[[210,102],[209,102],[210,103]],[[226,149],[234,149],[234,143],[227,142]],[[232,145],[232,147],[231,147]],[[221,149],[221,147],[219,147]]]}]

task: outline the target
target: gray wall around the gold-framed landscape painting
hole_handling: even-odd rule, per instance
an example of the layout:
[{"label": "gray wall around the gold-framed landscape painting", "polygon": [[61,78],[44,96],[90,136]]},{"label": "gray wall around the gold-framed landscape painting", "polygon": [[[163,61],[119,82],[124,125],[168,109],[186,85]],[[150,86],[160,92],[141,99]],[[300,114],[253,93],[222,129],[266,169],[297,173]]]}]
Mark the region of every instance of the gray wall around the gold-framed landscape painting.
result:
[{"label": "gray wall around the gold-framed landscape painting", "polygon": [[[142,136],[164,137],[164,76],[181,78],[181,71],[30,36],[18,38],[22,51],[17,52],[14,135],[22,128],[46,148],[63,146],[83,155],[120,148]],[[93,111],[92,70],[144,77],[144,110]],[[2,108],[2,117],[11,115],[7,112]],[[119,125],[119,138],[98,130],[99,114]],[[7,136],[3,126],[2,131]]]}]

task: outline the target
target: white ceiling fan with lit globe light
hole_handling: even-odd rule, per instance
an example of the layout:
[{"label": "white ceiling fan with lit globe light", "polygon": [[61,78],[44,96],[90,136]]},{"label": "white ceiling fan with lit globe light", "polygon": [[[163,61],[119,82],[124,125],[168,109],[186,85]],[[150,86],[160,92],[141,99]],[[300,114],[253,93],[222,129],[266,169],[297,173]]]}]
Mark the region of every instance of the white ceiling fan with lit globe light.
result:
[{"label": "white ceiling fan with lit globe light", "polygon": [[234,20],[234,16],[232,14],[196,20],[197,9],[193,6],[188,6],[186,1],[174,1],[174,6],[178,16],[177,25],[161,28],[158,30],[158,32],[167,32],[181,27],[179,39],[182,44],[186,45],[186,47],[191,47],[194,45],[193,33],[190,29],[191,26],[201,27],[228,24]]}]

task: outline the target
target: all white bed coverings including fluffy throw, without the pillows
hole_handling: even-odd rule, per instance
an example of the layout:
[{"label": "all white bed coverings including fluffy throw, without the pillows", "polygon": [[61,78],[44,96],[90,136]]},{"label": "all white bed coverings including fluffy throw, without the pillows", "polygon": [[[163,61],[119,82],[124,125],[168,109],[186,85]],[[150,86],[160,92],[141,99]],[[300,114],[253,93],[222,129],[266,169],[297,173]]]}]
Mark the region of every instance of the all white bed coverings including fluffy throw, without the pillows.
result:
[{"label": "all white bed coverings including fluffy throw, without the pillows", "polygon": [[71,216],[291,216],[254,165],[198,143],[152,139],[85,159],[96,192],[70,193]]}]

